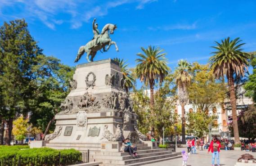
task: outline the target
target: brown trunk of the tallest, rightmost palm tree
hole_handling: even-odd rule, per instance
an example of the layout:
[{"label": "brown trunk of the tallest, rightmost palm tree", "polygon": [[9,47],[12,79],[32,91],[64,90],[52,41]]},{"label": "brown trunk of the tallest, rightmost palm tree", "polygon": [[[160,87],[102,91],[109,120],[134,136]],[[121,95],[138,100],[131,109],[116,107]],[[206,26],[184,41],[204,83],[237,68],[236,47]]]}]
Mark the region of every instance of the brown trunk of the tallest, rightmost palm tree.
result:
[{"label": "brown trunk of the tallest, rightmost palm tree", "polygon": [[234,85],[233,71],[231,71],[230,75],[228,76],[228,84],[229,84],[229,93],[230,93],[230,104],[231,104],[231,108],[232,108],[234,139],[235,139],[235,144],[240,144],[239,131],[238,131],[238,121],[237,121],[237,104],[236,104],[236,95],[235,95],[235,85]]}]

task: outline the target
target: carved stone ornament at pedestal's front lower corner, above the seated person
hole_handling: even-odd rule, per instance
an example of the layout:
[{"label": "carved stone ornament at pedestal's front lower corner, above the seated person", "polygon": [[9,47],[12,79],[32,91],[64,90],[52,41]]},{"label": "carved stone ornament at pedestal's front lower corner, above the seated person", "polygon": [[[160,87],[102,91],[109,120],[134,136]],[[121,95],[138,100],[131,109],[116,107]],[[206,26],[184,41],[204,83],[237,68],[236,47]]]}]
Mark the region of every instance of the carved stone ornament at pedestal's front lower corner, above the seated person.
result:
[{"label": "carved stone ornament at pedestal's front lower corner, above the seated person", "polygon": [[108,139],[108,141],[120,141],[123,138],[123,132],[122,132],[121,126],[119,124],[117,125],[116,134],[113,135],[108,130],[108,125],[105,125],[101,139],[104,139],[104,138]]}]

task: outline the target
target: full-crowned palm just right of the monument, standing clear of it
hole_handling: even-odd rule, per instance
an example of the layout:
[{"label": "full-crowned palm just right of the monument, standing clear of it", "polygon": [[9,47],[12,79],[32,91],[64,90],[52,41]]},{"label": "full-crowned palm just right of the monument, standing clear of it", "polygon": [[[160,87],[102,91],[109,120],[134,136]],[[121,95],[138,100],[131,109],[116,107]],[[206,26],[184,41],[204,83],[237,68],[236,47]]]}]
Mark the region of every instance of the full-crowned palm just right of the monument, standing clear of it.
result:
[{"label": "full-crowned palm just right of the monument, standing clear of it", "polygon": [[159,47],[155,48],[151,45],[148,46],[148,49],[144,49],[143,47],[141,49],[144,54],[137,54],[139,58],[136,59],[138,64],[135,68],[135,73],[140,81],[143,81],[145,85],[149,85],[150,106],[153,109],[155,81],[162,82],[170,68],[167,66],[166,53],[163,53],[163,49]]}]

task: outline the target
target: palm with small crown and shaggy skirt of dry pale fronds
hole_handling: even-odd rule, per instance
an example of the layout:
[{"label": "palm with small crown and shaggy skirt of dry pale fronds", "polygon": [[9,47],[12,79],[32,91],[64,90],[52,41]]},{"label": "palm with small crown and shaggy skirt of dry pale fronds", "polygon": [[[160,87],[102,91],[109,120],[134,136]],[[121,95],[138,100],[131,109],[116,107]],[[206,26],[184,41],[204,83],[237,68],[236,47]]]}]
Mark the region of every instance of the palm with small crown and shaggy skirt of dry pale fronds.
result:
[{"label": "palm with small crown and shaggy skirt of dry pale fronds", "polygon": [[178,98],[181,105],[181,120],[182,120],[182,144],[186,144],[185,138],[185,105],[188,102],[189,93],[188,87],[191,82],[189,70],[191,65],[186,60],[180,60],[178,67],[175,70],[176,85],[178,87]]}]

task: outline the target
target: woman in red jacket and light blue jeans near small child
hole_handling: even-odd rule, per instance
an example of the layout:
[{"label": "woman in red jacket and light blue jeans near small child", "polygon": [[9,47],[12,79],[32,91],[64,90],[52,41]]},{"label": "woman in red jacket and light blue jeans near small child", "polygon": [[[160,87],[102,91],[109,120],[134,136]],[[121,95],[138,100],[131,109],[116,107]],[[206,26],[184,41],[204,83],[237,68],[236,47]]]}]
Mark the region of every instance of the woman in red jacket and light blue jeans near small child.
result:
[{"label": "woman in red jacket and light blue jeans near small child", "polygon": [[216,137],[213,137],[211,144],[208,148],[208,153],[210,152],[210,150],[212,153],[212,159],[211,159],[212,166],[215,166],[214,165],[215,157],[217,159],[218,166],[220,166],[220,147],[221,147],[220,142],[216,139]]}]

